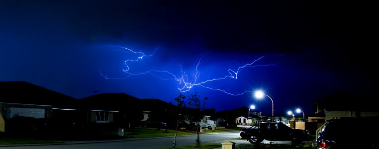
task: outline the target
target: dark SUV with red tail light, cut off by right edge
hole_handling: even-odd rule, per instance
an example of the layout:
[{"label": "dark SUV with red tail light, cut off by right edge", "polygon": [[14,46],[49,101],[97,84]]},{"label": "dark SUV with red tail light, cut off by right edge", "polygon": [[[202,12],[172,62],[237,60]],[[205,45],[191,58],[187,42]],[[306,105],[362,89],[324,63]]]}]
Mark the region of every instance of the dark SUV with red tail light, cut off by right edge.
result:
[{"label": "dark SUV with red tail light, cut off by right edge", "polygon": [[317,149],[379,149],[379,117],[342,117],[327,120]]}]

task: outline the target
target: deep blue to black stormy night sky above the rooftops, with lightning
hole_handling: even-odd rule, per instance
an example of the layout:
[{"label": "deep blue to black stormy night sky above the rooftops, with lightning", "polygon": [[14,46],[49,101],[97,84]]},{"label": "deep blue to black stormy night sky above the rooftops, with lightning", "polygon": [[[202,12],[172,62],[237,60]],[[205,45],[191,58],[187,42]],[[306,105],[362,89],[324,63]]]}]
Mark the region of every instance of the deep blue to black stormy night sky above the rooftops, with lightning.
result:
[{"label": "deep blue to black stormy night sky above the rooftops, with lightning", "polygon": [[[126,93],[216,111],[301,108],[375,96],[378,24],[358,1],[1,0],[0,81],[75,97]],[[373,99],[375,99],[373,98]],[[356,102],[359,102],[357,100]]]}]

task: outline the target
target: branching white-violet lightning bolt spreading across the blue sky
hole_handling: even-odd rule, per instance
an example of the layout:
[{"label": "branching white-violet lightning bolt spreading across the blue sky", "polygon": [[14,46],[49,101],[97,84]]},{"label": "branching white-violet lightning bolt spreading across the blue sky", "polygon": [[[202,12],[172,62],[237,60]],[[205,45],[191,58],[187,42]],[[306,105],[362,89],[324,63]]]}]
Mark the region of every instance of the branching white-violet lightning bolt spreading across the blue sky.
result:
[{"label": "branching white-violet lightning bolt spreading across the blue sky", "polygon": [[[226,94],[229,94],[229,95],[234,95],[234,96],[237,96],[237,95],[242,95],[246,92],[251,92],[251,91],[243,91],[241,93],[230,93],[230,92],[227,92],[226,90],[224,89],[219,89],[219,88],[213,88],[213,87],[209,87],[207,86],[207,83],[209,82],[215,82],[215,81],[221,81],[221,80],[224,80],[224,79],[230,79],[230,78],[234,78],[234,79],[237,79],[238,77],[238,74],[241,73],[241,71],[247,67],[258,67],[258,66],[262,66],[262,67],[265,67],[265,66],[275,66],[276,64],[269,64],[269,65],[255,65],[255,63],[259,60],[261,60],[262,58],[264,58],[264,56],[254,60],[252,63],[249,63],[249,64],[245,64],[244,66],[241,66],[239,67],[237,70],[232,70],[232,69],[229,69],[228,70],[228,73],[229,75],[226,75],[226,76],[223,76],[223,77],[219,77],[219,78],[213,78],[213,79],[208,79],[208,80],[205,80],[205,81],[199,81],[198,77],[200,76],[200,72],[198,70],[198,66],[200,65],[200,62],[201,62],[201,58],[198,60],[196,66],[195,66],[195,74],[194,74],[194,78],[193,79],[189,79],[189,75],[183,71],[182,69],[182,66],[180,66],[180,74],[176,75],[176,74],[173,74],[173,73],[170,73],[169,71],[165,71],[165,70],[149,70],[149,71],[145,71],[145,72],[137,72],[137,73],[131,73],[130,72],[130,63],[137,63],[138,61],[142,60],[143,58],[145,57],[151,57],[155,54],[156,50],[154,51],[153,54],[151,55],[145,55],[144,53],[142,52],[135,52],[133,50],[130,50],[128,48],[124,48],[124,47],[119,47],[119,48],[122,48],[124,49],[125,51],[123,52],[127,52],[127,53],[130,53],[130,54],[137,54],[138,56],[136,57],[136,59],[132,60],[132,59],[129,59],[129,60],[126,60],[124,61],[124,65],[126,66],[126,69],[122,70],[125,74],[127,74],[125,77],[123,78],[127,78],[127,77],[130,77],[130,76],[135,76],[135,75],[142,75],[142,74],[151,74],[153,76],[156,76],[162,80],[169,80],[169,79],[172,79],[172,80],[175,80],[177,83],[178,83],[178,89],[181,91],[181,92],[187,92],[189,91],[191,88],[193,88],[194,86],[201,86],[201,87],[204,87],[204,88],[208,88],[208,89],[211,89],[211,90],[218,90],[218,91],[222,91]],[[171,76],[170,78],[163,78],[161,75],[158,75],[159,73],[164,73],[164,74],[167,74],[169,76]],[[100,74],[105,77],[106,79],[123,79],[123,78],[112,78],[112,77],[108,77],[104,74],[101,73],[100,71]]]}]

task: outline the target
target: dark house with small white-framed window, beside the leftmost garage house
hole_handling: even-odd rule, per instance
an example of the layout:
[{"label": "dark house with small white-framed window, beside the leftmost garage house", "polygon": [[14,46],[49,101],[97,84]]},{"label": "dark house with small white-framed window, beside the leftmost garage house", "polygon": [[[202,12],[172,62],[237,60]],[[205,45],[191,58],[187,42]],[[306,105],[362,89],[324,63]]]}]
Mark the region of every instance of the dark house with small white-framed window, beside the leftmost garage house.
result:
[{"label": "dark house with small white-framed window, beside the leftmost garage house", "polygon": [[141,99],[125,93],[101,93],[78,99],[84,122],[93,130],[135,127],[143,119]]}]

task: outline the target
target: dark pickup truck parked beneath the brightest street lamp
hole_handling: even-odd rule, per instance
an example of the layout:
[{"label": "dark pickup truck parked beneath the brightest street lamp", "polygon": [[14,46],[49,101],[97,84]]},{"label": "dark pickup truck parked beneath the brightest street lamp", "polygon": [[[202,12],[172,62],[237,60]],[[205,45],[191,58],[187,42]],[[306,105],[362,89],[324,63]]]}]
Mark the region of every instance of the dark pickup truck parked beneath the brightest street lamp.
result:
[{"label": "dark pickup truck parked beneath the brightest street lamp", "polygon": [[250,143],[261,143],[263,140],[270,141],[291,141],[294,144],[310,140],[307,130],[293,129],[284,123],[260,123],[240,130],[241,139],[246,139]]}]

